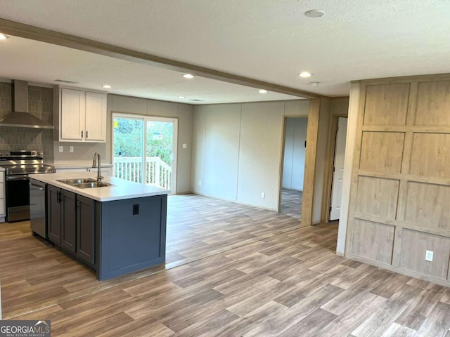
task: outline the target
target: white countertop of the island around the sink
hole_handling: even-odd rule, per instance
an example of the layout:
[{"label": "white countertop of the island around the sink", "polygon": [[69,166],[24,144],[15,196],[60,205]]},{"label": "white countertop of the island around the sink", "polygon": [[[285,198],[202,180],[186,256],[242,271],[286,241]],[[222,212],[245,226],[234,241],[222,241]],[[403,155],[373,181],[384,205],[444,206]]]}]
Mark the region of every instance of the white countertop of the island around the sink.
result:
[{"label": "white countertop of the island around the sink", "polygon": [[121,199],[131,199],[140,197],[153,197],[155,195],[168,194],[170,191],[162,188],[132,183],[115,177],[105,177],[102,181],[115,186],[95,187],[95,188],[78,188],[56,180],[75,179],[75,178],[93,178],[97,177],[94,172],[62,172],[62,173],[41,173],[33,174],[31,178],[47,183],[63,190],[77,193],[83,197],[91,198],[96,201],[113,201]]}]

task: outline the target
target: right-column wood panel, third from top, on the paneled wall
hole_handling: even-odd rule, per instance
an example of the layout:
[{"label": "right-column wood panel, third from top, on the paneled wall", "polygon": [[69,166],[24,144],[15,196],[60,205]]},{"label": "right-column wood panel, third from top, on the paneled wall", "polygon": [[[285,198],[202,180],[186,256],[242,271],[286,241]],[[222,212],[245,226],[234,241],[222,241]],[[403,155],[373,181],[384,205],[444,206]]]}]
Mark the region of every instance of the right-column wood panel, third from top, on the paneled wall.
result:
[{"label": "right-column wood panel, third from top, on the paneled wall", "polygon": [[404,220],[450,231],[450,186],[408,182]]}]

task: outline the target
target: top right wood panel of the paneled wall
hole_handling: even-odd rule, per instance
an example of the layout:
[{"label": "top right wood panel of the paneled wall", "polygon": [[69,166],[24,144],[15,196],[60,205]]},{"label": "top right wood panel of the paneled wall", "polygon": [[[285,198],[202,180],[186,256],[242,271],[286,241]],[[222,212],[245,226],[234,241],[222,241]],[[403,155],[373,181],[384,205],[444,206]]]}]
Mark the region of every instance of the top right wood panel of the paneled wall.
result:
[{"label": "top right wood panel of the paneled wall", "polygon": [[418,84],[414,125],[450,126],[450,81],[423,81]]}]

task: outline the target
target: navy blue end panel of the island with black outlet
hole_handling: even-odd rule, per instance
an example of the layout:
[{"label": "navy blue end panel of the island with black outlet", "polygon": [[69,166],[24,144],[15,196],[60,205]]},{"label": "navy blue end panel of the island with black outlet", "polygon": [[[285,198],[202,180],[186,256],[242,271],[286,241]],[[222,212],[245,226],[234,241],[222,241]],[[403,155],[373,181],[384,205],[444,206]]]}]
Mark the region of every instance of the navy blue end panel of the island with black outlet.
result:
[{"label": "navy blue end panel of the island with black outlet", "polygon": [[98,206],[98,279],[165,262],[167,194]]}]

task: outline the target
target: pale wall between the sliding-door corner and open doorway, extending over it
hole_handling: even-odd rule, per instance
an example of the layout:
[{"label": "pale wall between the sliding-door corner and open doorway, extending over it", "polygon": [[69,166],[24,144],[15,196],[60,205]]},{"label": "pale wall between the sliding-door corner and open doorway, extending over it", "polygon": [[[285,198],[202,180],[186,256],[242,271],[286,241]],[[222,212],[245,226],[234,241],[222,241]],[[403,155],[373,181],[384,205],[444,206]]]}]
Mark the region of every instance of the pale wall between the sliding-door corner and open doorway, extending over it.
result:
[{"label": "pale wall between the sliding-door corner and open doorway, extending over it", "polygon": [[191,190],[278,210],[283,116],[308,110],[307,100],[195,106]]}]

